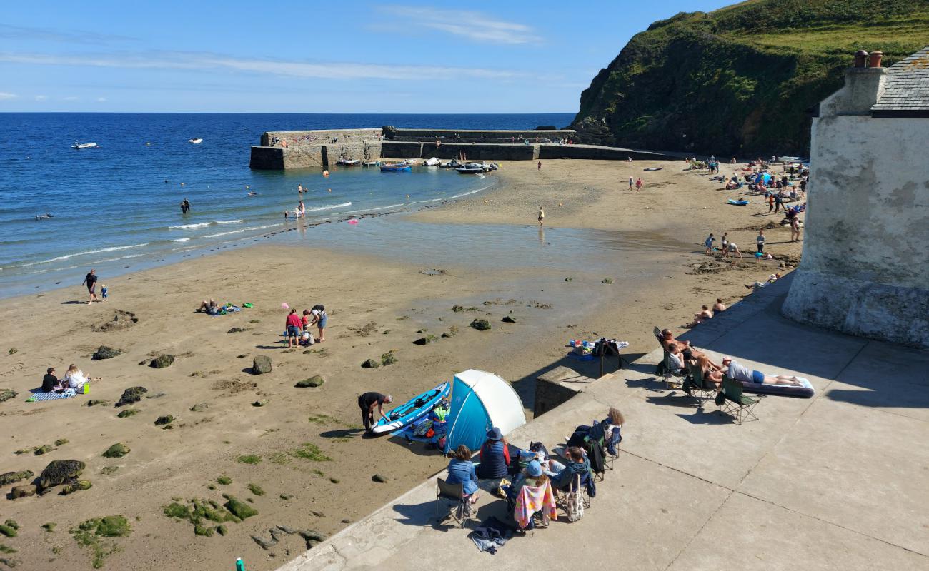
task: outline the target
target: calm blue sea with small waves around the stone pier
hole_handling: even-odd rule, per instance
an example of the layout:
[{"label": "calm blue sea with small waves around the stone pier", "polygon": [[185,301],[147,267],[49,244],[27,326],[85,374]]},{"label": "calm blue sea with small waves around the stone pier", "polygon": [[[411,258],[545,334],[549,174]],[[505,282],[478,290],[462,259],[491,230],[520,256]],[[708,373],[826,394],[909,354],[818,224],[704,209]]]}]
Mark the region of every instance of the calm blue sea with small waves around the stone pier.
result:
[{"label": "calm blue sea with small waves around the stone pier", "polygon": [[[488,188],[442,169],[267,172],[249,148],[271,130],[377,128],[532,129],[564,126],[547,114],[0,114],[0,295],[69,284],[90,267],[116,275],[237,245],[274,232],[297,205],[307,222],[419,208]],[[190,145],[190,138],[203,144]],[[100,149],[74,150],[75,141]],[[183,186],[181,186],[183,183]],[[257,193],[248,196],[249,190]],[[409,197],[407,196],[409,195]],[[179,202],[192,210],[181,214]],[[52,218],[35,220],[37,214]]]}]

